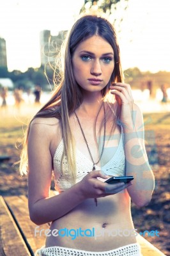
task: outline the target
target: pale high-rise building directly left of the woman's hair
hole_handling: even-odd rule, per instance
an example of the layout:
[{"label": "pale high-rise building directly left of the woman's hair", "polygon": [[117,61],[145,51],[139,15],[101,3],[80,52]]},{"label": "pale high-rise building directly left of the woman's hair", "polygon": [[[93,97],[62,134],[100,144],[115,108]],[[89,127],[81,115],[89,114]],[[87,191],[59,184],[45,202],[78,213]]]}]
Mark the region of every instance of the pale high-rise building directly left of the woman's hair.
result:
[{"label": "pale high-rise building directly left of the woman's hair", "polygon": [[59,31],[58,35],[50,35],[50,30],[40,32],[41,65],[45,66],[49,61],[54,62],[67,31]]}]

